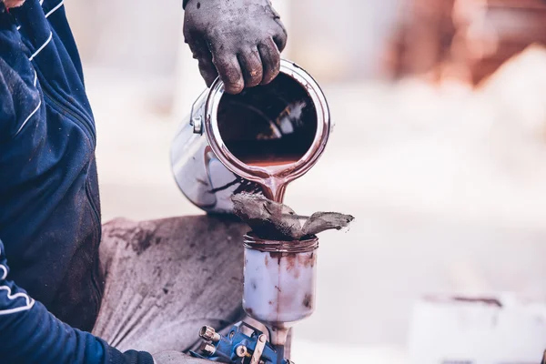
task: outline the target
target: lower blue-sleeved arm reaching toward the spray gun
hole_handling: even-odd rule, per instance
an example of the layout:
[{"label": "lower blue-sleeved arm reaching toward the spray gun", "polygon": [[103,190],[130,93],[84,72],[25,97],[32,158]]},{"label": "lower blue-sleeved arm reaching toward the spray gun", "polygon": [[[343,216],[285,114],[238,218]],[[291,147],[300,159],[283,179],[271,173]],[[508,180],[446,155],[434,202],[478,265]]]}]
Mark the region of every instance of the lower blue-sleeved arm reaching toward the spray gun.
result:
[{"label": "lower blue-sleeved arm reaching toward the spray gun", "polygon": [[152,356],[121,353],[90,333],[56,319],[10,281],[0,241],[0,353],[5,363],[153,364]]}]

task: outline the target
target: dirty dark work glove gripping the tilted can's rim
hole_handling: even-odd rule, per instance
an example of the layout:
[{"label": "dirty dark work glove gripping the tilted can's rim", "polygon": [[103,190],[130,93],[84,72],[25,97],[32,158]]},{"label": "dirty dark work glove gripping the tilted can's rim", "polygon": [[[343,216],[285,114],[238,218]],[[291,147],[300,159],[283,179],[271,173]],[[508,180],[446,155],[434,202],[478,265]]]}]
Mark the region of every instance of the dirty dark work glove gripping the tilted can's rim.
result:
[{"label": "dirty dark work glove gripping the tilted can's rim", "polygon": [[278,75],[287,32],[269,0],[187,0],[184,37],[207,86],[266,85]]}]

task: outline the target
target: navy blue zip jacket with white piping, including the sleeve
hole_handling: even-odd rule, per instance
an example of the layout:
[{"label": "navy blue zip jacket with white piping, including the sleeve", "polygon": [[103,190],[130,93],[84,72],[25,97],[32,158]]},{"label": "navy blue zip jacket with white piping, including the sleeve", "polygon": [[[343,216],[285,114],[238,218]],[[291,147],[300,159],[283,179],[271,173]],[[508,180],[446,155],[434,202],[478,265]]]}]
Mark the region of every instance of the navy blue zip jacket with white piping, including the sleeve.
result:
[{"label": "navy blue zip jacket with white piping, including the sleeve", "polygon": [[151,364],[86,332],[104,289],[96,133],[62,2],[0,2],[0,363]]}]

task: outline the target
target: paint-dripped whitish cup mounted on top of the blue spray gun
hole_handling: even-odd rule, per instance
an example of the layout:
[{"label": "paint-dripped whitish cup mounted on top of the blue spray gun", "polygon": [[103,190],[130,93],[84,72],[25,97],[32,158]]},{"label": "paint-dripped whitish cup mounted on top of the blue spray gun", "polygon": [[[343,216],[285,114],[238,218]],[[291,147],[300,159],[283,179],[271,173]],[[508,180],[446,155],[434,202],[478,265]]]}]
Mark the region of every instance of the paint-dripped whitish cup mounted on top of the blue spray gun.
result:
[{"label": "paint-dripped whitish cup mounted on top of the blue spray gun", "polygon": [[275,241],[249,233],[244,246],[243,308],[271,329],[274,345],[284,345],[288,329],[315,310],[319,238]]}]

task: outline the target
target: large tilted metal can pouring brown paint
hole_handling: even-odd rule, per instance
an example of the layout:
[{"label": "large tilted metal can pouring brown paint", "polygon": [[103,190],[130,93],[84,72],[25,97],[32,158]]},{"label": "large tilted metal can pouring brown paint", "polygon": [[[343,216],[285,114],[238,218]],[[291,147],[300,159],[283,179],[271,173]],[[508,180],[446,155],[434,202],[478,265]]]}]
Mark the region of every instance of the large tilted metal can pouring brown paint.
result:
[{"label": "large tilted metal can pouring brown paint", "polygon": [[[205,90],[177,131],[171,167],[178,187],[197,207],[231,213],[233,194],[268,196],[271,191],[258,181],[304,175],[324,151],[331,130],[329,106],[317,82],[281,60],[279,75],[268,85],[234,96],[217,79]],[[278,167],[272,172],[270,166]]]}]

